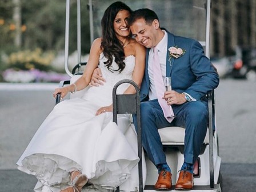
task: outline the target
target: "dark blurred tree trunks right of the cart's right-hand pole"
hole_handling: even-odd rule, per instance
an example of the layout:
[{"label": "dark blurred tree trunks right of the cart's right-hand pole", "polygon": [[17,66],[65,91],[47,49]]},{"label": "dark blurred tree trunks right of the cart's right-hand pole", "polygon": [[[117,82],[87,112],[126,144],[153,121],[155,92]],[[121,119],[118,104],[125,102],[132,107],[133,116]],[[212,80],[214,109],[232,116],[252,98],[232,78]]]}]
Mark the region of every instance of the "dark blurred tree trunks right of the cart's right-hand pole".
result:
[{"label": "dark blurred tree trunks right of the cart's right-hand pole", "polygon": [[211,1],[211,55],[233,54],[236,46],[256,47],[256,1]]}]

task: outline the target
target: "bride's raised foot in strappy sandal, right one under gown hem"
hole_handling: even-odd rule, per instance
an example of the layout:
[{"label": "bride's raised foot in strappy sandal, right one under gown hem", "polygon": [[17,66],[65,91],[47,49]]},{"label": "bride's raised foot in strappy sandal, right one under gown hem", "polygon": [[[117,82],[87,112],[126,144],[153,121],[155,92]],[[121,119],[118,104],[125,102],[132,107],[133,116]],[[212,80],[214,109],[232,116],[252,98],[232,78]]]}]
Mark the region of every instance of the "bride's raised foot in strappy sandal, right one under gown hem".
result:
[{"label": "bride's raised foot in strappy sandal, right one under gown hem", "polygon": [[80,192],[82,190],[82,187],[85,186],[88,182],[88,178],[85,174],[82,174],[79,171],[72,171],[70,174],[70,181],[74,189],[77,189],[78,192]]}]

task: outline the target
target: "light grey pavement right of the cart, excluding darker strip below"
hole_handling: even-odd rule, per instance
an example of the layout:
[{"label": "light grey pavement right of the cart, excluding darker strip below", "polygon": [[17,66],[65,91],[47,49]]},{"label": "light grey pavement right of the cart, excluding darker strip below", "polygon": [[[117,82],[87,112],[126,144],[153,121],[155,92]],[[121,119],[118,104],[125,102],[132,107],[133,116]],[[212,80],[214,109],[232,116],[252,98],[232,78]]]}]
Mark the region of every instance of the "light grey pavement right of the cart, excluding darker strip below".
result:
[{"label": "light grey pavement right of the cart, excluding darker strip below", "polygon": [[222,162],[256,163],[255,94],[256,82],[234,79],[222,79],[215,91]]}]

